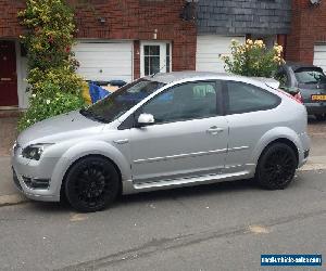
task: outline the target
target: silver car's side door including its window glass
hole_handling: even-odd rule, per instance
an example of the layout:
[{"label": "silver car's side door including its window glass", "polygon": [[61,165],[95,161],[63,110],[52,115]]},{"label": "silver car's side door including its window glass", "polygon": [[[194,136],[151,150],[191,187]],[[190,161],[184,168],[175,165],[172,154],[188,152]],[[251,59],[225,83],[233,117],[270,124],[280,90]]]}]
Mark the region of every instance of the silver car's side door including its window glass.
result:
[{"label": "silver car's side door including its window glass", "polygon": [[137,183],[217,175],[224,168],[228,126],[221,114],[217,81],[177,85],[155,95],[135,114],[155,121],[131,128],[131,172]]}]

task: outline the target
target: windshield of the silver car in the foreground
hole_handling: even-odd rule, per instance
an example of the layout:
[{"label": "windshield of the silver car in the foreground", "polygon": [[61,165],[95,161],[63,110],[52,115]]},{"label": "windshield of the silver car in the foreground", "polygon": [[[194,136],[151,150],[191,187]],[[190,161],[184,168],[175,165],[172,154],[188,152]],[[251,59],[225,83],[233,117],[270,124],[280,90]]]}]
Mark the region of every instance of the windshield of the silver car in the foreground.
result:
[{"label": "windshield of the silver car in the foreground", "polygon": [[111,122],[163,86],[163,82],[136,80],[88,108],[82,109],[80,114],[102,122]]}]

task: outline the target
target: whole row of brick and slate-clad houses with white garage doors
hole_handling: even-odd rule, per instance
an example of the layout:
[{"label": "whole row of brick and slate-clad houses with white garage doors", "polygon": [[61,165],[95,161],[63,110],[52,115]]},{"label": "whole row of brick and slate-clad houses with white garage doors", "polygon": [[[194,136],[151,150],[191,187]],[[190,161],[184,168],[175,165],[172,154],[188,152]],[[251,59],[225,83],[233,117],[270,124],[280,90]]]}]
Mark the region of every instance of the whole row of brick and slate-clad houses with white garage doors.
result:
[{"label": "whole row of brick and slate-clad houses with white garage doors", "polygon": [[[78,73],[88,80],[130,81],[158,70],[223,72],[218,55],[228,53],[230,39],[248,37],[281,43],[286,60],[315,63],[326,70],[325,0],[70,2],[76,9]],[[26,55],[18,41],[24,29],[16,17],[24,4],[0,0],[0,109],[25,108],[28,102]]]}]

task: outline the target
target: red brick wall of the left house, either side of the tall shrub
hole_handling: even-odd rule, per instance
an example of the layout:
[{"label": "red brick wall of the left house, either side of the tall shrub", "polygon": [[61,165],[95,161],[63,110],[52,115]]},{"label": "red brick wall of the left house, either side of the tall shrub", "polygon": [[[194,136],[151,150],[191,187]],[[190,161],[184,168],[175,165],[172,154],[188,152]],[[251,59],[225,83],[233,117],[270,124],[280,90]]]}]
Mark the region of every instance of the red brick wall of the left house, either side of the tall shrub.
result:
[{"label": "red brick wall of the left house, either side of the tall shrub", "polygon": [[[0,0],[0,38],[17,37],[23,0]],[[134,74],[139,77],[139,40],[172,41],[173,70],[196,68],[196,25],[180,13],[185,0],[70,0],[76,11],[77,38],[135,40]],[[4,12],[3,12],[4,11]],[[100,23],[100,18],[105,22]]]}]

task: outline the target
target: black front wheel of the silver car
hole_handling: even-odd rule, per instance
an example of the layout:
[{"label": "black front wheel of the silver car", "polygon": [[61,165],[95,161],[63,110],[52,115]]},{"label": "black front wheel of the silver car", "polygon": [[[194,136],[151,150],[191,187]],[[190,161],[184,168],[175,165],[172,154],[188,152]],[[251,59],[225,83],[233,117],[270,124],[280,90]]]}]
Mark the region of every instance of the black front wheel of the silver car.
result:
[{"label": "black front wheel of the silver car", "polygon": [[120,175],[114,165],[103,157],[89,156],[68,170],[64,191],[71,206],[78,211],[102,210],[120,193]]}]

